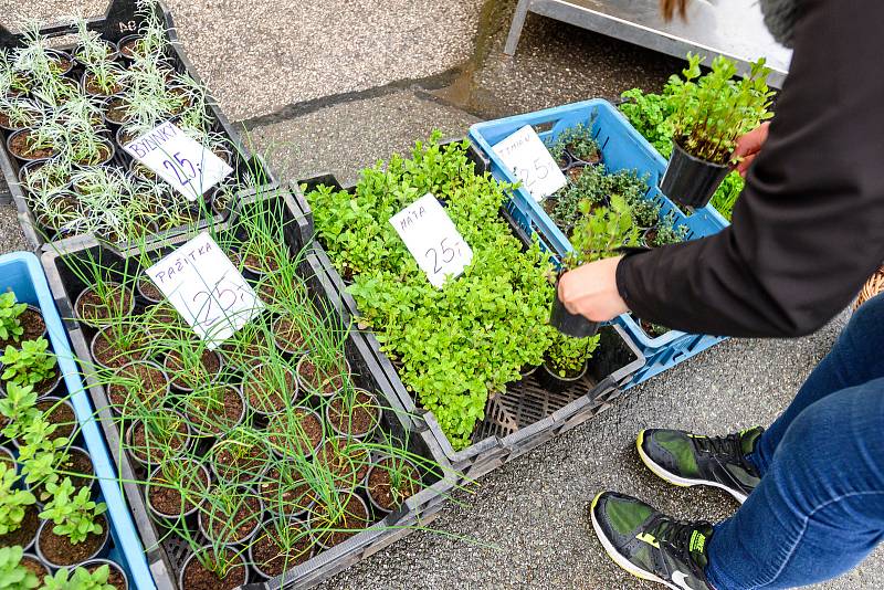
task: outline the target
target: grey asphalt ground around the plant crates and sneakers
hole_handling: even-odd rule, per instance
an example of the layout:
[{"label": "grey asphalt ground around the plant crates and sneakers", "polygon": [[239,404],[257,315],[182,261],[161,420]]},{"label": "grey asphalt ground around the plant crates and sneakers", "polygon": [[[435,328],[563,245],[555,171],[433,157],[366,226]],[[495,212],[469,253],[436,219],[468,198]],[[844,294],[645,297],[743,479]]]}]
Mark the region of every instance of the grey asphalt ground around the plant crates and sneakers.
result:
[{"label": "grey asphalt ground around the plant crates and sneakers", "polygon": [[[274,165],[288,179],[333,171],[344,182],[433,128],[457,136],[476,117],[654,88],[678,67],[671,57],[534,15],[516,56],[505,56],[514,3],[170,2],[198,72],[232,119],[251,119],[256,146],[274,147]],[[57,0],[0,0],[0,14],[29,4],[32,13],[73,10]],[[439,89],[449,77],[453,84]],[[341,102],[341,93],[356,94]],[[0,207],[0,238],[3,252],[24,245],[12,208]],[[656,481],[635,456],[635,433],[726,433],[769,423],[844,319],[797,340],[730,340],[634,388],[608,412],[485,476],[477,492],[456,494],[432,524],[438,531],[415,531],[322,588],[657,588],[603,555],[585,518],[593,495],[633,493],[683,518],[717,520],[737,506],[717,491]],[[884,552],[815,588],[884,588]]]}]

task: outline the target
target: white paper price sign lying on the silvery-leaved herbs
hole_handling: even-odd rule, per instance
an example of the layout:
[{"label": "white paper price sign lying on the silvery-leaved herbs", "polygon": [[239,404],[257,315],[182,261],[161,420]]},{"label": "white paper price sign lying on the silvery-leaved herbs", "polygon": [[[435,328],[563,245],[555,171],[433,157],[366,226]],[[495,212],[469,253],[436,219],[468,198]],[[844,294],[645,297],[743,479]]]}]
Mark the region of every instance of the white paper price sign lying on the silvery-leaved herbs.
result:
[{"label": "white paper price sign lying on the silvery-leaved herbs", "polygon": [[124,149],[191,201],[233,172],[224,160],[171,123],[151,129]]}]

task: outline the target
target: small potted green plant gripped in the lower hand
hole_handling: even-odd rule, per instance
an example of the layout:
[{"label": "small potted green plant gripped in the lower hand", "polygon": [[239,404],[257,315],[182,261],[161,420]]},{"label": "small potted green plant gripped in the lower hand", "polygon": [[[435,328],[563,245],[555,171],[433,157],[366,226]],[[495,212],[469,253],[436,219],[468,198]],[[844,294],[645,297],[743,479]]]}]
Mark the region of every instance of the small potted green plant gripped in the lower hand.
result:
[{"label": "small potted green plant gripped in the lower hand", "polygon": [[[634,246],[639,230],[632,223],[632,213],[623,197],[611,197],[611,207],[592,208],[592,203],[580,203],[583,218],[571,235],[573,250],[562,259],[562,265],[571,271],[580,265],[617,255],[620,247]],[[562,334],[573,338],[593,336],[599,329],[598,322],[590,322],[581,315],[571,314],[565,307],[556,289],[556,301],[549,324]]]}]

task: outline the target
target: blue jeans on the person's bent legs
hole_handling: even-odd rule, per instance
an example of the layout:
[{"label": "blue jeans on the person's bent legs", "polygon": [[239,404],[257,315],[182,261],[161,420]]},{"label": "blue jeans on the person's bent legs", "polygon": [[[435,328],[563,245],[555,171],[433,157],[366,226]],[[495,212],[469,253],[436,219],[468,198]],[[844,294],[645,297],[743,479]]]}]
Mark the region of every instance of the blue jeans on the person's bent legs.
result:
[{"label": "blue jeans on the person's bent legs", "polygon": [[884,295],[853,315],[749,460],[761,483],[709,542],[717,590],[828,580],[884,539]]}]

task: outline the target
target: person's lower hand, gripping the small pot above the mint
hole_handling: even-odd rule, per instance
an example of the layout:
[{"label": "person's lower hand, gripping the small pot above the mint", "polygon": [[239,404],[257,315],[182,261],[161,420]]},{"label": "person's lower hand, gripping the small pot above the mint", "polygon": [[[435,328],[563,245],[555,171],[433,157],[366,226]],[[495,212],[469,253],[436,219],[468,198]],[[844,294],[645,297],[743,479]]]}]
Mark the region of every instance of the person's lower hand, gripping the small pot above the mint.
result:
[{"label": "person's lower hand, gripping the small pot above the mint", "polygon": [[628,312],[617,289],[617,265],[622,259],[604,259],[561,275],[559,299],[565,308],[591,322],[607,322]]}]

